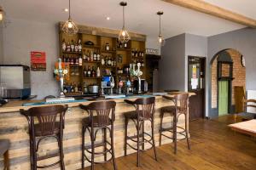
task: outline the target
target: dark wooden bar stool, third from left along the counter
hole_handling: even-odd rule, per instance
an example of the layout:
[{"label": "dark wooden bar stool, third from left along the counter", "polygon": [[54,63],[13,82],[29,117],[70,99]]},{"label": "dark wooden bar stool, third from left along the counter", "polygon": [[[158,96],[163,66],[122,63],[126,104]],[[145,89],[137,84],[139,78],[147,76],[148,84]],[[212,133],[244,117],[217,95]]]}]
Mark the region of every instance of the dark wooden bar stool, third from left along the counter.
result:
[{"label": "dark wooden bar stool, third from left along the counter", "polygon": [[[140,166],[140,145],[143,146],[143,150],[145,150],[145,143],[149,143],[152,145],[150,149],[154,149],[154,158],[157,161],[156,151],[155,151],[155,143],[154,143],[154,105],[155,105],[155,98],[141,98],[136,99],[135,101],[131,101],[125,99],[125,102],[130,105],[134,105],[136,111],[129,111],[125,112],[125,156],[127,155],[127,145],[131,147],[133,150],[137,150],[137,167]],[[137,135],[128,136],[128,123],[129,120],[134,122]],[[144,132],[144,122],[149,121],[151,122],[151,130],[152,135],[149,133]],[[142,132],[140,132],[142,131]],[[145,139],[145,135],[149,137],[149,139]],[[141,140],[141,138],[143,138]],[[133,147],[131,144],[128,143],[128,140],[131,142],[137,143],[137,147]]]}]

